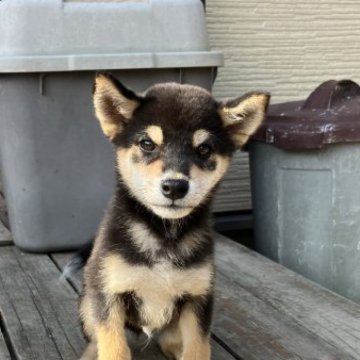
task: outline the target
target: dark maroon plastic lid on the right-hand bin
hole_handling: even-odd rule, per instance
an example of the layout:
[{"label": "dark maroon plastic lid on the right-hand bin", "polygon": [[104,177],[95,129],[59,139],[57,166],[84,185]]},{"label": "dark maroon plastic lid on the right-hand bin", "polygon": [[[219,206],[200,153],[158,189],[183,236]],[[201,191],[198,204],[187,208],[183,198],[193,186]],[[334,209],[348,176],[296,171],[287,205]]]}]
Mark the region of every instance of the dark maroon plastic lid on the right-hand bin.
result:
[{"label": "dark maroon plastic lid on the right-hand bin", "polygon": [[360,87],[351,80],[329,80],[306,100],[271,105],[252,139],[286,150],[360,142]]}]

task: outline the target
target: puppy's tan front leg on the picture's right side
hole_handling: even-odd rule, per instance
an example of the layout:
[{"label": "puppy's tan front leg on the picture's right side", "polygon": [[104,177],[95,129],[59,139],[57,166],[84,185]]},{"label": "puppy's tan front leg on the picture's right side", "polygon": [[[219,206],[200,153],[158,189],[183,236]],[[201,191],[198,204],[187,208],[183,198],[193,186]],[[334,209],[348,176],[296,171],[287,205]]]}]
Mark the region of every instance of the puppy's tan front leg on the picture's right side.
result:
[{"label": "puppy's tan front leg on the picture's right side", "polygon": [[184,306],[179,319],[183,340],[181,360],[210,360],[211,311],[211,295],[202,305],[189,303]]}]

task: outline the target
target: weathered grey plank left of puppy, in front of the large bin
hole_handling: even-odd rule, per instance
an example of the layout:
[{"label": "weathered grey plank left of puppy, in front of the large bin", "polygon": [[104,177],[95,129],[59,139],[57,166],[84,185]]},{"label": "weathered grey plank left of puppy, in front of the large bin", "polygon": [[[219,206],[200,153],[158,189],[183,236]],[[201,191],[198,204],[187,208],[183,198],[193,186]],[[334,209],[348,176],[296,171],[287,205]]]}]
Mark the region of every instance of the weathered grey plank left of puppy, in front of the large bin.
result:
[{"label": "weathered grey plank left of puppy, in front of the large bin", "polygon": [[17,360],[75,360],[85,346],[77,294],[46,255],[0,250],[0,311]]}]

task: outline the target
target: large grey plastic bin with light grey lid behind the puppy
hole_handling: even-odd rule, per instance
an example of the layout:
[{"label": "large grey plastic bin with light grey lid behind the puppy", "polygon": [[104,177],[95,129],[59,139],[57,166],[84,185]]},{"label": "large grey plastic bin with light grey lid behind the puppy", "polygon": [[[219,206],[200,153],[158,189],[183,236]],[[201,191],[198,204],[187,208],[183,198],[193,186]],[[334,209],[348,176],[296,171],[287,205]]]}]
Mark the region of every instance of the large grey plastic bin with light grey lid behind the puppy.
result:
[{"label": "large grey plastic bin with light grey lid behind the puppy", "polygon": [[211,89],[198,0],[0,1],[0,166],[16,245],[78,248],[113,190],[111,145],[94,118],[97,70],[142,91],[165,81]]}]

